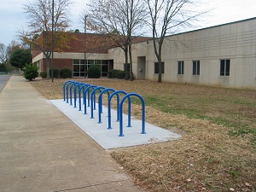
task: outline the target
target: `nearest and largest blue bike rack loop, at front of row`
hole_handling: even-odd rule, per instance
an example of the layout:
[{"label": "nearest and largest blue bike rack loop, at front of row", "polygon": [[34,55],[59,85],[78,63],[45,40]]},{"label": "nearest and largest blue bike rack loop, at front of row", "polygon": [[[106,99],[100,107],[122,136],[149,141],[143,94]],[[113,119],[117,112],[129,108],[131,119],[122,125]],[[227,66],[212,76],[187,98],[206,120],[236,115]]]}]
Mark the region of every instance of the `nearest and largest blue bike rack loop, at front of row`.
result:
[{"label": "nearest and largest blue bike rack loop, at front of row", "polygon": [[[141,102],[142,102],[142,133],[141,134],[146,134],[145,131],[145,102],[143,100],[143,97],[138,95],[137,93],[129,93],[126,96],[123,97],[123,99],[120,102],[119,105],[119,114],[120,114],[120,119],[119,119],[119,137],[124,137],[124,130],[123,130],[123,104],[125,102],[126,98],[130,98],[131,96],[137,96]],[[128,103],[128,106],[131,105],[131,103]],[[129,113],[129,112],[128,112]]]}]

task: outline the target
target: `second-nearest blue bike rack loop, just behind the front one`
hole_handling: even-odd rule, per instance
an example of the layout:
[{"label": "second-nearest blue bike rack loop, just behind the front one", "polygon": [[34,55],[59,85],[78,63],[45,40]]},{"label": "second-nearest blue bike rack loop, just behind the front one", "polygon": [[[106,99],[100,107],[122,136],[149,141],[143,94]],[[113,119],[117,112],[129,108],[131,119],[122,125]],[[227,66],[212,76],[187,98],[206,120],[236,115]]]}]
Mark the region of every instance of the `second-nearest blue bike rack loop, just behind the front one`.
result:
[{"label": "second-nearest blue bike rack loop, just behind the front one", "polygon": [[[108,130],[111,130],[111,99],[113,96],[117,96],[117,121],[119,121],[119,93],[127,95],[124,90],[114,91],[108,98]],[[128,99],[128,102],[131,103],[131,99]],[[128,105],[128,126],[131,126],[131,105]]]}]

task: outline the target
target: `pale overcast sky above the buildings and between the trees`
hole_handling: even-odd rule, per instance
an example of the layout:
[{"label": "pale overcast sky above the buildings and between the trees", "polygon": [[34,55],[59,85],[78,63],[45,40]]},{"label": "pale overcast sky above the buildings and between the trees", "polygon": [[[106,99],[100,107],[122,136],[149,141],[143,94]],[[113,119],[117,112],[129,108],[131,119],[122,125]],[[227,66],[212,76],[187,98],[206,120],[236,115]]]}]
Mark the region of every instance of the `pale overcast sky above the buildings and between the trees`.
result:
[{"label": "pale overcast sky above the buildings and between the trees", "polygon": [[[71,9],[71,29],[79,29],[84,32],[83,24],[79,23],[79,15],[86,8],[89,0],[73,0]],[[217,26],[236,20],[244,20],[256,17],[255,0],[197,0],[201,6],[212,11],[205,15],[201,28]],[[12,40],[17,40],[17,32],[26,29],[26,14],[23,4],[27,0],[0,0],[0,43],[8,45]]]}]

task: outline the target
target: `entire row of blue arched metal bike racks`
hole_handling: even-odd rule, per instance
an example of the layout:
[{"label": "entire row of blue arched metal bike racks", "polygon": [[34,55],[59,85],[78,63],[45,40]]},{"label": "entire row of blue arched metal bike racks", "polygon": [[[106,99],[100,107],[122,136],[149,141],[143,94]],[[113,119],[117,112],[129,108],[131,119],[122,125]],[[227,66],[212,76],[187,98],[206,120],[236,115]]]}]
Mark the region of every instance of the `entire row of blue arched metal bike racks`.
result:
[{"label": "entire row of blue arched metal bike racks", "polygon": [[[73,89],[74,86],[74,89]],[[86,88],[86,89],[85,89]],[[83,91],[83,100],[84,100],[84,114],[86,114],[86,108],[90,107],[90,119],[94,119],[93,110],[96,110],[96,91],[99,90],[100,94],[98,96],[98,123],[102,123],[102,95],[107,92],[108,94],[108,130],[111,130],[111,99],[113,96],[117,97],[117,121],[119,121],[119,137],[124,137],[123,130],[123,108],[124,102],[128,100],[128,125],[127,127],[131,127],[131,96],[137,96],[142,102],[142,132],[141,134],[146,134],[145,131],[145,102],[143,97],[138,95],[137,93],[129,93],[127,94],[124,90],[113,90],[111,88],[106,89],[105,87],[100,87],[91,84],[84,84],[81,82],[76,82],[72,80],[67,80],[63,84],[63,101],[68,103],[68,99],[70,99],[70,105],[72,105],[72,96],[74,97],[74,108],[76,108],[77,102],[77,94],[79,89],[79,111],[81,110],[81,92]],[[69,92],[68,92],[69,90]],[[110,91],[112,94],[110,95]],[[69,94],[68,94],[69,93]],[[86,94],[87,94],[87,102],[86,102]],[[123,94],[123,98],[120,101],[119,94]],[[68,95],[70,98],[68,98]],[[88,103],[88,105],[86,105]],[[90,104],[91,103],[91,104]]]}]

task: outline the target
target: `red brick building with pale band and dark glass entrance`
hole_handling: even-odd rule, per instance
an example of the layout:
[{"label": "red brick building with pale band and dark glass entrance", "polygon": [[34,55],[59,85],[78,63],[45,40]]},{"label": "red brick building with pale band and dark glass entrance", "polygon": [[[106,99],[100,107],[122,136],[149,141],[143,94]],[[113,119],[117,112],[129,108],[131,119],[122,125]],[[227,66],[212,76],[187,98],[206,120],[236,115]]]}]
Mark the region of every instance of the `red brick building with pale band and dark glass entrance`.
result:
[{"label": "red brick building with pale band and dark glass entrance", "polygon": [[[108,35],[68,32],[72,39],[61,51],[54,50],[53,68],[70,68],[73,77],[87,76],[90,65],[98,65],[101,68],[102,77],[108,76],[108,71],[113,69],[113,57],[108,55],[108,49],[117,47]],[[45,38],[44,33],[40,38]],[[149,38],[134,38],[133,42],[143,42]],[[120,55],[124,55],[122,51]],[[32,49],[32,62],[36,62],[40,72],[46,72],[47,62],[42,51]],[[84,63],[85,59],[85,63]],[[85,69],[85,70],[84,70]]]}]

